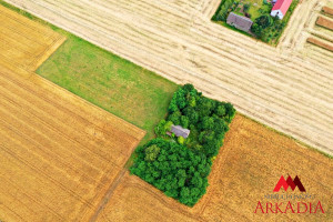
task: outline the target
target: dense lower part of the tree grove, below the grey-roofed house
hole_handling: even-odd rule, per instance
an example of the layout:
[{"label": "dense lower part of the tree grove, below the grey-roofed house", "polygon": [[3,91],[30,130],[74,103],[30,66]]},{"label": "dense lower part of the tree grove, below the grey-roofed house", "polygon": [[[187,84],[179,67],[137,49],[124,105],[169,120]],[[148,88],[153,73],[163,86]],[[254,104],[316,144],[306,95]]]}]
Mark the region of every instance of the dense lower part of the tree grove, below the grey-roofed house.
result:
[{"label": "dense lower part of the tree grove, below the grey-roofed house", "polygon": [[193,206],[205,193],[212,161],[184,145],[158,138],[139,147],[131,173]]}]

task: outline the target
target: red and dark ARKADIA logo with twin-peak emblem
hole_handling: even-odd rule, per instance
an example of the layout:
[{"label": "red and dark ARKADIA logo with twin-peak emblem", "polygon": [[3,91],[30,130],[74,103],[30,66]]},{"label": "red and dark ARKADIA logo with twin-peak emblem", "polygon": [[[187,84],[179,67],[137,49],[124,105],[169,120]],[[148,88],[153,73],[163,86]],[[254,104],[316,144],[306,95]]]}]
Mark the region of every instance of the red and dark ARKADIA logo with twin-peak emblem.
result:
[{"label": "red and dark ARKADIA logo with twin-peak emblem", "polygon": [[[291,188],[295,191],[296,186],[304,193],[305,188],[300,178],[296,175],[294,180],[289,175],[285,180],[282,175],[278,181],[273,192],[279,192],[283,186],[284,191]],[[325,213],[320,201],[313,202],[316,195],[313,194],[265,194],[268,202],[258,202],[254,213]]]}]

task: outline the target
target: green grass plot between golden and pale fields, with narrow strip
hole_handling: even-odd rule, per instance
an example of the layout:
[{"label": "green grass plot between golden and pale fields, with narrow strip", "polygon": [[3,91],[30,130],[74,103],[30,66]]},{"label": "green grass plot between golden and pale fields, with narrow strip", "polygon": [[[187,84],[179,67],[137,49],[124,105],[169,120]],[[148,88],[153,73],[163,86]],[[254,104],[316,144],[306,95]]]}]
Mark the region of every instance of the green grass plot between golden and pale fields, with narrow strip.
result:
[{"label": "green grass plot between golden and pale fields, with narrow strip", "polygon": [[175,83],[2,0],[0,3],[67,37],[38,74],[145,130],[142,143],[154,137],[154,125],[165,117],[178,89]]}]

